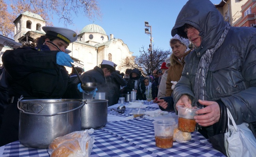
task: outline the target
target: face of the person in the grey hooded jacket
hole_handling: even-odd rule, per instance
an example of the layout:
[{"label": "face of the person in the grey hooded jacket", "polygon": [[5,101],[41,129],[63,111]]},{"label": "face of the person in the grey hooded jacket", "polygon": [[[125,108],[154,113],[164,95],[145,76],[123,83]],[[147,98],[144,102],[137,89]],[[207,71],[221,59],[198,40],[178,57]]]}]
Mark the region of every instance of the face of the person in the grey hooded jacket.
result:
[{"label": "face of the person in the grey hooded jacket", "polygon": [[191,41],[196,47],[199,47],[201,44],[201,36],[199,36],[199,31],[195,27],[185,28],[184,32],[187,33],[187,38]]}]

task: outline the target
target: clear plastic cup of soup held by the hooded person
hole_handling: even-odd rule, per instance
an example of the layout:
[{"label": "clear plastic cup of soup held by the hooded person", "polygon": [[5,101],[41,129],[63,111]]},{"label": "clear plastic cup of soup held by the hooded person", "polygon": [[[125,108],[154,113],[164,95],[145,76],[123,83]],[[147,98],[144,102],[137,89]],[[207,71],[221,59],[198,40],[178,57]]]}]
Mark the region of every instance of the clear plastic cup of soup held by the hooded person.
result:
[{"label": "clear plastic cup of soup held by the hooded person", "polygon": [[199,108],[186,106],[178,106],[178,129],[183,132],[194,132],[196,127],[196,120],[194,116]]}]

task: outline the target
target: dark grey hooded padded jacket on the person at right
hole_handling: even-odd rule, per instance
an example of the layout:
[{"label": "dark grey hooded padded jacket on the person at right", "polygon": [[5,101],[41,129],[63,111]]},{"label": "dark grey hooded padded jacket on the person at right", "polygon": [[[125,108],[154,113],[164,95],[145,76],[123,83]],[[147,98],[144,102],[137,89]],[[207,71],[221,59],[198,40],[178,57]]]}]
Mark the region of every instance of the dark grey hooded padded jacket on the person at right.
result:
[{"label": "dark grey hooded padded jacket on the person at right", "polygon": [[[200,5],[198,5],[200,4]],[[202,7],[204,6],[204,7]],[[194,85],[200,57],[215,46],[223,33],[225,21],[209,0],[189,0],[180,11],[171,31],[190,24],[199,31],[201,45],[185,58],[182,77],[176,84],[174,105],[183,94],[195,105]],[[215,128],[226,119],[228,108],[237,125],[256,121],[256,29],[231,27],[223,44],[216,50],[206,76],[206,100],[220,105],[221,117]],[[224,110],[222,109],[224,106]],[[174,107],[176,110],[176,107]],[[226,124],[221,124],[224,127]],[[250,124],[249,124],[250,125]],[[218,131],[216,132],[216,134]]]}]

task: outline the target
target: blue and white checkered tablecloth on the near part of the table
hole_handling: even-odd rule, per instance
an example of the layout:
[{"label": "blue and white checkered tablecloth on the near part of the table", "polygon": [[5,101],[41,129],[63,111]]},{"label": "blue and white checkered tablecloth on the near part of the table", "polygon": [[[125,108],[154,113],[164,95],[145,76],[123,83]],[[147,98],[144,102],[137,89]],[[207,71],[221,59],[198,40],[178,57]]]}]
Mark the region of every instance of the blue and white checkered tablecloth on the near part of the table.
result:
[{"label": "blue and white checkered tablecloth on the near part of the table", "polygon": [[[141,118],[108,122],[102,129],[95,129],[95,143],[91,157],[224,157],[197,131],[186,142],[174,142],[172,148],[155,146],[153,120]],[[4,147],[3,157],[49,157],[47,149],[22,146],[18,141]]]}]

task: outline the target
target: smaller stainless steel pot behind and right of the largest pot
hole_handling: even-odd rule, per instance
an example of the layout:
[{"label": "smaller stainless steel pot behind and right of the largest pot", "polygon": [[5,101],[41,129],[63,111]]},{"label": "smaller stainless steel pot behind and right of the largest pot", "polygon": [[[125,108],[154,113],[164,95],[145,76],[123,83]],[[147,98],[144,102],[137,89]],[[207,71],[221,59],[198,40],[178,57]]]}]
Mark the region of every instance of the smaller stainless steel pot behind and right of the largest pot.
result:
[{"label": "smaller stainless steel pot behind and right of the largest pot", "polygon": [[98,129],[108,122],[108,100],[93,99],[82,108],[82,129]]}]

